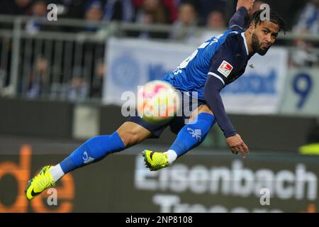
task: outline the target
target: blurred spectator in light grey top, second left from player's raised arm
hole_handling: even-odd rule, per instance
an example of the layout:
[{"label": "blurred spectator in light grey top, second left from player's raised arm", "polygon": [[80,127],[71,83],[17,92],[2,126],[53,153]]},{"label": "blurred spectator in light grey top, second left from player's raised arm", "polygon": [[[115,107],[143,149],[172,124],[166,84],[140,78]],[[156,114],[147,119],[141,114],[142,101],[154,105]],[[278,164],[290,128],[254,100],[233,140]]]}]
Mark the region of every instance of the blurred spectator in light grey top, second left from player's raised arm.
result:
[{"label": "blurred spectator in light grey top, second left from player's raised arm", "polygon": [[174,22],[170,38],[174,40],[189,40],[194,38],[197,26],[196,10],[192,4],[179,6],[178,19]]}]

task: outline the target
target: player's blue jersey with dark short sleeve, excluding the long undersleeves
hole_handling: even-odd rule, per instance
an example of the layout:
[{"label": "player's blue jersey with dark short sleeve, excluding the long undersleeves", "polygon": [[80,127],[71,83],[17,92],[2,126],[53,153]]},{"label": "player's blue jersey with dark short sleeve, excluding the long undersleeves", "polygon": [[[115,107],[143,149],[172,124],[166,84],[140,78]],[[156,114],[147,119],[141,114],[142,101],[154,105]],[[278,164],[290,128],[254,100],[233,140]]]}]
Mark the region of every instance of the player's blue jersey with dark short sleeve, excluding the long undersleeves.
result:
[{"label": "player's blue jersey with dark short sleeve, excluding the long undersleeves", "polygon": [[224,85],[233,82],[245,72],[250,59],[245,35],[238,26],[235,28],[207,40],[162,79],[181,91],[198,92],[202,100],[208,74]]}]

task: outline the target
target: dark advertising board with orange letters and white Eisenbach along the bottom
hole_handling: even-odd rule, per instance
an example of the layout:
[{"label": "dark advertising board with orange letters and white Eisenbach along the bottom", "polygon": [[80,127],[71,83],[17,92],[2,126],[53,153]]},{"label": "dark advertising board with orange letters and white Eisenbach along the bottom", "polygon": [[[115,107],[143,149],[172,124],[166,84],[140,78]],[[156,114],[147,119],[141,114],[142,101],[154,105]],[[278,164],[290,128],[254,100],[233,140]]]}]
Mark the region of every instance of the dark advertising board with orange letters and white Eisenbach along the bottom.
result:
[{"label": "dark advertising board with orange letters and white Eisenbach along the bottom", "polygon": [[[317,212],[318,158],[292,153],[192,153],[150,172],[140,148],[69,173],[27,201],[24,189],[69,144],[0,145],[0,212]],[[5,152],[4,152],[5,151]],[[125,165],[123,165],[125,163]],[[56,198],[55,198],[56,197]]]}]

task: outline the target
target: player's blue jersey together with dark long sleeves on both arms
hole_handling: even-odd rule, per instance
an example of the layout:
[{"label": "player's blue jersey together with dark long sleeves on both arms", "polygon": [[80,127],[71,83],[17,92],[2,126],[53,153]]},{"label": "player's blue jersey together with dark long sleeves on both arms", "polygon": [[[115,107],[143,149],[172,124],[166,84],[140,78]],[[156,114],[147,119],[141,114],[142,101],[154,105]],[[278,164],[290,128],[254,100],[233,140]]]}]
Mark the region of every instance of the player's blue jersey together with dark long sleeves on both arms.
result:
[{"label": "player's blue jersey together with dark long sleeves on both arms", "polygon": [[230,19],[230,30],[203,43],[177,70],[163,78],[182,92],[197,92],[198,99],[211,109],[226,138],[235,135],[236,130],[225,112],[220,91],[245,72],[253,55],[243,29],[245,16],[247,9],[242,6]]}]

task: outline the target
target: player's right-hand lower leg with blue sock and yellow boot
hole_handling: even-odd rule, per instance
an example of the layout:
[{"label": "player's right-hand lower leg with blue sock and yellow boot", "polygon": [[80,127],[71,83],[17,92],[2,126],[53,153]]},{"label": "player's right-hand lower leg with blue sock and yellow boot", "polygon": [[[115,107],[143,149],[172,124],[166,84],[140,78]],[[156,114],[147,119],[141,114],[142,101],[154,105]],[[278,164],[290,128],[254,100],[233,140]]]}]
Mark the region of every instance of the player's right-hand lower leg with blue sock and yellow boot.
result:
[{"label": "player's right-hand lower leg with blue sock and yellow boot", "polygon": [[203,142],[215,123],[215,116],[208,112],[208,107],[207,109],[206,107],[201,109],[207,112],[199,113],[190,123],[181,128],[176,140],[167,152],[159,153],[151,150],[142,152],[145,165],[151,171],[160,170],[171,165],[177,157],[184,155]]}]

